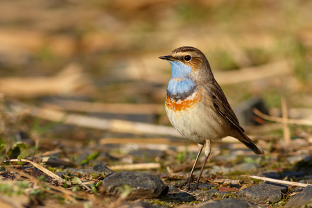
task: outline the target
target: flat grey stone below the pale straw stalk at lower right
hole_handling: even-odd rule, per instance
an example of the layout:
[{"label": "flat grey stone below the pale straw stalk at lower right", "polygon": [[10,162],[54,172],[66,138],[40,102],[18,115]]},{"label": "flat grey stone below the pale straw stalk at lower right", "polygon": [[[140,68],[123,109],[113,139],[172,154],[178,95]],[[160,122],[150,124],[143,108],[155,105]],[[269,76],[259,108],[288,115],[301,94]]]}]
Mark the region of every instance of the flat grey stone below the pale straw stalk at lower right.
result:
[{"label": "flat grey stone below the pale straw stalk at lower right", "polygon": [[286,192],[287,186],[273,183],[263,183],[253,187],[241,189],[237,195],[243,200],[248,200],[255,204],[266,202],[278,202],[281,200],[281,192]]}]

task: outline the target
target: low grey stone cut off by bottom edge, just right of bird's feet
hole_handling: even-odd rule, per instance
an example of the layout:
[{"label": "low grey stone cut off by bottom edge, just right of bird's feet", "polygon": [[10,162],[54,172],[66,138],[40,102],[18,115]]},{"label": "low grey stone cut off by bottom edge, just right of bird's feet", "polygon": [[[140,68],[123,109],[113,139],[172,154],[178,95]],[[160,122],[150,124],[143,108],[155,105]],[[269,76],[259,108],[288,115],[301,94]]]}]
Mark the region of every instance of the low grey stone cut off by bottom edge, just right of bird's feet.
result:
[{"label": "low grey stone cut off by bottom edge, just right of bird's feet", "polygon": [[202,202],[200,205],[196,205],[194,208],[248,208],[248,204],[243,200],[236,200],[235,198],[224,198],[219,201],[207,201]]}]

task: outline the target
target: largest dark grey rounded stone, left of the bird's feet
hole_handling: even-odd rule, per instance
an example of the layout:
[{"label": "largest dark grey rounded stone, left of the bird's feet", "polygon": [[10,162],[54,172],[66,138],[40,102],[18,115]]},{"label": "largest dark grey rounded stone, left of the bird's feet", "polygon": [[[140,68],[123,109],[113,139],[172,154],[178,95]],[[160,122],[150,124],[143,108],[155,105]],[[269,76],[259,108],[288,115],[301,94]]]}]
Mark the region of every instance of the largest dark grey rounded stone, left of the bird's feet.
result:
[{"label": "largest dark grey rounded stone, left of the bird's feet", "polygon": [[107,175],[103,180],[106,192],[117,194],[121,187],[131,187],[128,200],[160,198],[166,196],[168,187],[156,175],[141,172],[119,172]]}]

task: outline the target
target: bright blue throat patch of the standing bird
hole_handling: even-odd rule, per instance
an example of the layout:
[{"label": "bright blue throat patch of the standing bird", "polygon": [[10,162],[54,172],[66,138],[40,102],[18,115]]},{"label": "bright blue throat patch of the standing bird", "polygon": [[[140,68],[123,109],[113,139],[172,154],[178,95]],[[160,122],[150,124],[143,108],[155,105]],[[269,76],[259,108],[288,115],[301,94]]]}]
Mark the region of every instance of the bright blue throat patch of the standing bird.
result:
[{"label": "bright blue throat patch of the standing bird", "polygon": [[191,67],[180,61],[169,61],[171,64],[171,79],[167,88],[167,96],[175,100],[186,98],[196,89],[196,83],[189,78]]}]

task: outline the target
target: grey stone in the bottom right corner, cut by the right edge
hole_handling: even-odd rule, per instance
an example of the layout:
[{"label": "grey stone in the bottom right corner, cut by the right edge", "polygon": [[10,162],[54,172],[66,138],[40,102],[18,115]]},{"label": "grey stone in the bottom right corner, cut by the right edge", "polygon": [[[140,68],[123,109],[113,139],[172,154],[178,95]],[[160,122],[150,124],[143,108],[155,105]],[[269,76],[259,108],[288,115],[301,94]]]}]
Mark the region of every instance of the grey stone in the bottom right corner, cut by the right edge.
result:
[{"label": "grey stone in the bottom right corner, cut by the right edge", "polygon": [[312,186],[307,186],[286,203],[285,207],[302,207],[312,202]]}]

